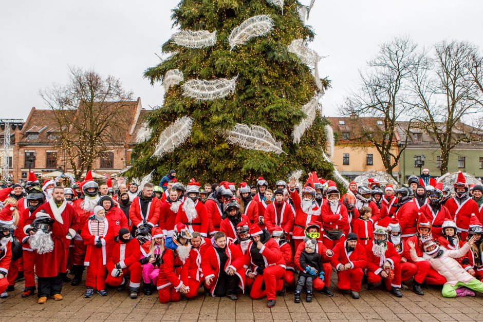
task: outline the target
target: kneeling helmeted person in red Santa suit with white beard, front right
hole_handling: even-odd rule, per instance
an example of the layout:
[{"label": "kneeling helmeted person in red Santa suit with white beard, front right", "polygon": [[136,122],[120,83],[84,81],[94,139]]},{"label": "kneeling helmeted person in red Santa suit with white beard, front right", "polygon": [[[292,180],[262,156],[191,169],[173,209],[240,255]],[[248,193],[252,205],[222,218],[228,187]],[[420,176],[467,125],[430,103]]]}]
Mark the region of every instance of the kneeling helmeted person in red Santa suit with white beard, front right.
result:
[{"label": "kneeling helmeted person in red Santa suit with white beard, front right", "polygon": [[367,289],[373,290],[383,279],[388,291],[397,297],[402,297],[401,266],[399,254],[394,245],[387,242],[387,228],[374,227],[374,240],[366,246],[367,256]]}]

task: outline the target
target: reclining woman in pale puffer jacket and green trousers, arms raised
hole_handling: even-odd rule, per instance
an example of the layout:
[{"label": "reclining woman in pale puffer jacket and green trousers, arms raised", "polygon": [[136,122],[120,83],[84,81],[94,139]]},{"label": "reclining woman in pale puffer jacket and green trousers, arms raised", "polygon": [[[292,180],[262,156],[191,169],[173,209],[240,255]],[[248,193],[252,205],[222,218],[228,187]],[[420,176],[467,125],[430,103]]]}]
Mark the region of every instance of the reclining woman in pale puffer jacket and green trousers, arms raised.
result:
[{"label": "reclining woman in pale puffer jacket and green trousers, arms raised", "polygon": [[407,244],[411,248],[411,259],[414,262],[429,261],[431,267],[446,278],[447,282],[441,291],[444,297],[462,297],[475,296],[475,293],[468,289],[483,293],[483,283],[466,272],[455,259],[468,253],[475,240],[475,237],[472,237],[459,250],[448,250],[433,240],[428,240],[423,243],[423,257],[418,257],[412,241],[408,241]]}]

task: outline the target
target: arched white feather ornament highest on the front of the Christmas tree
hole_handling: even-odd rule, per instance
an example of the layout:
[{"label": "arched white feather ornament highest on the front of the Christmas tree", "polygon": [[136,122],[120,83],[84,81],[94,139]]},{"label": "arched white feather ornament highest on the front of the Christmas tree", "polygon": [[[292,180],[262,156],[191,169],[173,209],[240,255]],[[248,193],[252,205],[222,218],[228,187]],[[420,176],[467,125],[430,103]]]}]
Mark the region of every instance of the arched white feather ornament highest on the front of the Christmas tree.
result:
[{"label": "arched white feather ornament highest on the front of the Christmas tree", "polygon": [[248,18],[228,36],[230,51],[236,46],[245,44],[252,37],[266,35],[272,31],[272,28],[273,20],[269,15],[261,14]]}]

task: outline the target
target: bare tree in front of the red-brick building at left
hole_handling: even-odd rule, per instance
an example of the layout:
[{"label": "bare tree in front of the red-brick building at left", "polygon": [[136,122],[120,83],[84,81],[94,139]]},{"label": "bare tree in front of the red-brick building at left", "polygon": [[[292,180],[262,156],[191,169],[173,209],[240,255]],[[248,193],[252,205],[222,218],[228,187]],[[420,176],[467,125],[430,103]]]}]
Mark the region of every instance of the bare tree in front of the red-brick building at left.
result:
[{"label": "bare tree in front of the red-brick building at left", "polygon": [[106,149],[124,143],[131,123],[124,107],[133,93],[125,91],[119,79],[70,67],[66,85],[54,84],[40,94],[54,111],[57,145],[65,152],[76,179],[92,169],[98,158],[104,158]]}]

